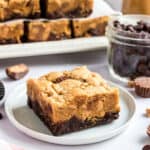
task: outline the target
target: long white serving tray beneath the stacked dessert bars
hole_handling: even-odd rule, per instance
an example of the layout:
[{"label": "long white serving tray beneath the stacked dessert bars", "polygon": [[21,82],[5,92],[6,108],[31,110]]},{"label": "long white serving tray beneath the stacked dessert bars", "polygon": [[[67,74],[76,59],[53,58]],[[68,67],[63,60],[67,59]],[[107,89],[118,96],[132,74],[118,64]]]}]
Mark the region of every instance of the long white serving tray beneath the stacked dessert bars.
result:
[{"label": "long white serving tray beneath the stacked dessert bars", "polygon": [[[114,11],[103,0],[94,0],[94,12],[89,16],[89,18],[118,14],[120,13]],[[0,59],[91,51],[107,46],[108,40],[105,36],[69,39],[63,41],[0,45]]]}]

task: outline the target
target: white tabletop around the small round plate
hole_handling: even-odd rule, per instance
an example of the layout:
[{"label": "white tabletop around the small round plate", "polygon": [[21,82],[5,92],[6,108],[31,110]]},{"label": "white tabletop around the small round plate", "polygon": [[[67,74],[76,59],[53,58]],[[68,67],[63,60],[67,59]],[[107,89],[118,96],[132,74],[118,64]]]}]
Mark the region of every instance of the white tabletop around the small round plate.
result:
[{"label": "white tabletop around the small round plate", "polygon": [[[5,67],[20,62],[29,65],[30,72],[28,75],[19,81],[8,79],[5,75]],[[58,65],[66,65],[67,68],[70,68],[70,65],[74,64],[87,65],[91,70],[101,73],[106,79],[113,80],[107,69],[105,51],[102,50],[77,54],[0,60],[0,79],[5,82],[8,95],[13,88],[21,82],[25,82],[31,76],[39,76],[47,73],[52,67],[57,70],[55,66]],[[117,83],[121,85],[120,82]],[[4,113],[4,119],[0,120],[0,139],[2,138],[10,143],[20,145],[25,150],[141,150],[143,145],[150,144],[150,139],[145,133],[150,120],[144,116],[145,109],[150,106],[150,99],[139,98],[133,92],[132,94],[135,96],[137,102],[135,120],[124,133],[111,140],[84,146],[60,146],[40,142],[18,131],[7,119],[3,108],[0,108],[0,111]],[[12,101],[14,100],[12,97]]]}]

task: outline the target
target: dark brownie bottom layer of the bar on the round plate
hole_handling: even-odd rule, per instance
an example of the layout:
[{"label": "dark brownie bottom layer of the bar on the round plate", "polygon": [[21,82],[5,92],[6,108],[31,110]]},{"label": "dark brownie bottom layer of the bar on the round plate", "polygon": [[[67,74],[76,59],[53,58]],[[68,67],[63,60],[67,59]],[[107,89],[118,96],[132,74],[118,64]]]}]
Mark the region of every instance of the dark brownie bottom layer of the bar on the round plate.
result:
[{"label": "dark brownie bottom layer of the bar on the round plate", "polygon": [[35,114],[44,122],[53,135],[58,136],[70,132],[80,131],[83,129],[91,128],[98,125],[104,125],[112,122],[119,117],[119,113],[107,113],[103,118],[94,118],[95,121],[85,120],[82,121],[76,117],[72,117],[70,120],[53,124],[49,117],[47,117],[37,101],[32,101],[28,98],[28,105],[33,109]]}]

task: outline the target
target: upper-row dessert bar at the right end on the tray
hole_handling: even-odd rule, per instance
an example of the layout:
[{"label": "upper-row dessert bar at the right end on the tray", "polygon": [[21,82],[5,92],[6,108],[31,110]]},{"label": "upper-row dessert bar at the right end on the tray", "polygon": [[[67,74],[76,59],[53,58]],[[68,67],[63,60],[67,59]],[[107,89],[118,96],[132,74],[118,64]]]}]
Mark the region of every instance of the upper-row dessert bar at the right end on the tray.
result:
[{"label": "upper-row dessert bar at the right end on the tray", "polygon": [[87,17],[93,11],[94,0],[44,0],[46,18]]}]

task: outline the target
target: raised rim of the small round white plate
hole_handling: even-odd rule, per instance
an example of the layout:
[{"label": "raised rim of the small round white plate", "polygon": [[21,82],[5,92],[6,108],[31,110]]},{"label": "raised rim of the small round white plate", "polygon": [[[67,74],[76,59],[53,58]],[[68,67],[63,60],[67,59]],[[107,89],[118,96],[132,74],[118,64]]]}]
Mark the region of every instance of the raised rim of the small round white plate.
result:
[{"label": "raised rim of the small round white plate", "polygon": [[[136,114],[136,101],[135,98],[132,96],[132,94],[130,94],[124,87],[113,83],[111,81],[106,80],[108,84],[110,84],[111,86],[115,86],[117,88],[119,88],[123,93],[125,93],[126,95],[128,95],[130,97],[130,102],[132,102],[132,107],[134,110],[130,109],[130,117],[129,119],[121,126],[119,126],[118,128],[112,130],[111,132],[108,132],[106,134],[103,134],[102,136],[96,136],[96,137],[87,137],[85,138],[76,138],[76,142],[71,142],[72,140],[70,139],[70,137],[64,137],[64,136],[53,136],[53,135],[48,135],[48,134],[44,134],[44,133],[40,133],[38,131],[35,131],[33,129],[30,129],[26,126],[24,126],[23,124],[21,124],[19,121],[17,121],[13,115],[13,111],[12,109],[10,110],[7,105],[9,103],[9,97],[11,97],[11,95],[13,95],[13,92],[10,93],[5,101],[4,104],[4,108],[5,108],[5,112],[6,115],[9,119],[9,121],[11,122],[11,124],[18,129],[18,131],[24,133],[25,135],[32,137],[34,139],[38,139],[40,141],[44,141],[44,142],[48,142],[48,143],[54,143],[54,144],[60,144],[60,145],[85,145],[85,144],[92,144],[92,143],[97,143],[97,142],[102,142],[106,139],[110,139],[114,136],[117,136],[118,134],[120,134],[121,132],[123,132],[128,126],[129,124],[134,120],[135,118],[135,114]],[[24,83],[18,85],[14,91],[18,90],[19,87],[25,85]],[[129,107],[128,107],[129,108]],[[65,142],[68,141],[68,142]],[[83,141],[83,142],[81,142]]]}]

